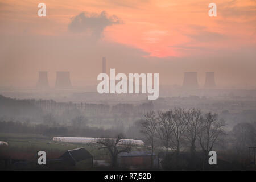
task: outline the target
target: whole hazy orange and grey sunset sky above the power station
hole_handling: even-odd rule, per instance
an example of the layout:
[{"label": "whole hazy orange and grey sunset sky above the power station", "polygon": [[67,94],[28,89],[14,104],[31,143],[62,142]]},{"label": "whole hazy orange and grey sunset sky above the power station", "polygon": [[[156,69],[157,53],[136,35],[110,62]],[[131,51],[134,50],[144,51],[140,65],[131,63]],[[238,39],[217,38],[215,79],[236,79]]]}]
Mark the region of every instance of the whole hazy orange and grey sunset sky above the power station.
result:
[{"label": "whole hazy orange and grey sunset sky above the power station", "polygon": [[[38,4],[46,4],[46,17]],[[38,71],[70,71],[93,85],[107,69],[159,73],[181,85],[184,72],[215,73],[221,87],[256,87],[256,1],[0,0],[0,86],[35,86]]]}]

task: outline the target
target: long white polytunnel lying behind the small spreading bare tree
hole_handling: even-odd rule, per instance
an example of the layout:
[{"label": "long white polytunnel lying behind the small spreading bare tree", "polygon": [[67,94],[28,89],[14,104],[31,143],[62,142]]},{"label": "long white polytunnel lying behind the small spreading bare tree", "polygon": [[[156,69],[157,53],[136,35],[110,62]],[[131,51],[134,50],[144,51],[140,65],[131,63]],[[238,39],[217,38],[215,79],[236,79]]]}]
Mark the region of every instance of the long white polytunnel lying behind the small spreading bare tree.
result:
[{"label": "long white polytunnel lying behind the small spreading bare tree", "polygon": [[[104,138],[92,138],[92,137],[53,137],[55,142],[65,142],[65,143],[97,143]],[[115,140],[115,138],[110,138]],[[138,146],[143,146],[144,142],[142,140],[134,139],[121,139],[118,144],[133,144]]]}]

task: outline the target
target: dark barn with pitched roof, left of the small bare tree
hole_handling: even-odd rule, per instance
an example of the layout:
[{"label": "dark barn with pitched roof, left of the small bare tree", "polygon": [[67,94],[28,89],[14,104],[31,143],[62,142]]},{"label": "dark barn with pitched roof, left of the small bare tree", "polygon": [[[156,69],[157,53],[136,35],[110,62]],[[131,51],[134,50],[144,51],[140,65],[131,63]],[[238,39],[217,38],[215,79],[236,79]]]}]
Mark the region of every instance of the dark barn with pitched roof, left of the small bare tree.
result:
[{"label": "dark barn with pitched roof, left of the small bare tree", "polygon": [[75,165],[82,160],[91,159],[93,165],[93,156],[85,148],[76,148],[73,150],[68,150],[63,155],[59,157],[60,160],[65,160],[68,163]]}]

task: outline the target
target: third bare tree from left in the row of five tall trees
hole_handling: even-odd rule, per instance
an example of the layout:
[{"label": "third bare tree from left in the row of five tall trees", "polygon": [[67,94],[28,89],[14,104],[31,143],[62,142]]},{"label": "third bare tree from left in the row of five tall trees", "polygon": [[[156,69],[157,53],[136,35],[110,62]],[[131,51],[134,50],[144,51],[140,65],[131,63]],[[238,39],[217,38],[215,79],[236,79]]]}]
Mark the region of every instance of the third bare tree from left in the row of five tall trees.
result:
[{"label": "third bare tree from left in the row of five tall trees", "polygon": [[178,154],[180,152],[180,145],[187,125],[187,120],[185,119],[184,113],[184,109],[181,108],[175,108],[173,111],[174,139],[172,139],[172,142],[174,143]]}]

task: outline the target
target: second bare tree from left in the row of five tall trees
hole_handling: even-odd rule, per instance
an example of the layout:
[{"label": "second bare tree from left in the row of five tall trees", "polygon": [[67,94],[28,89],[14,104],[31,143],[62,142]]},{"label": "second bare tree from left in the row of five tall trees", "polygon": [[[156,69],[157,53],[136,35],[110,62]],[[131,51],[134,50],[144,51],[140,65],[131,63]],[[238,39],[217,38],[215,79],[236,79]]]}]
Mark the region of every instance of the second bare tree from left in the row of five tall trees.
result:
[{"label": "second bare tree from left in the row of five tall trees", "polygon": [[174,130],[174,121],[172,110],[158,112],[158,137],[166,147],[166,154],[171,142],[172,131]]}]

